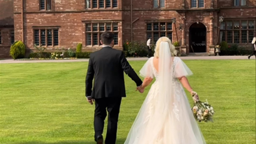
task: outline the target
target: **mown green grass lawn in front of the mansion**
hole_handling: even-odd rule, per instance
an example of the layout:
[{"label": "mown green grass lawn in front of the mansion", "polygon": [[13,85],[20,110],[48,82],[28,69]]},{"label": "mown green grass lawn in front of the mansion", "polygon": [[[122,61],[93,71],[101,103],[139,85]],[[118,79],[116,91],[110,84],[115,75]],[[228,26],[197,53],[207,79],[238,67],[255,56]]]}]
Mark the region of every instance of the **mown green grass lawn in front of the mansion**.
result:
[{"label": "mown green grass lawn in front of the mansion", "polygon": [[[130,63],[138,73],[145,61]],[[194,73],[189,77],[194,91],[216,111],[214,123],[199,123],[207,144],[254,144],[255,60],[185,63]],[[1,64],[0,143],[94,144],[94,106],[84,96],[87,64]],[[117,144],[124,143],[149,90],[139,94],[128,76],[125,82]]]}]

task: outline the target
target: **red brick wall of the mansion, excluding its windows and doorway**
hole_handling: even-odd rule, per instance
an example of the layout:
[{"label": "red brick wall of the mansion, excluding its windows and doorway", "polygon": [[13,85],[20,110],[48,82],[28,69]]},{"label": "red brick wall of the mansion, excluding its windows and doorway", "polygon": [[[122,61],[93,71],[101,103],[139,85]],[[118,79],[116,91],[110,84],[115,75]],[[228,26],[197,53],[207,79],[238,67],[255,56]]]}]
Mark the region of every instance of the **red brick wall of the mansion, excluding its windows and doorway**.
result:
[{"label": "red brick wall of the mansion, excluding its windows and doorway", "polygon": [[[14,0],[15,40],[21,40],[21,1]],[[86,9],[85,0],[53,0],[50,11],[39,10],[39,0],[24,0],[24,39],[27,49],[34,44],[35,27],[59,26],[59,46],[48,50],[75,48],[83,43],[83,51],[97,50],[98,46],[85,46],[86,22],[117,22],[119,26],[119,45],[131,41],[131,1],[118,0],[117,8]],[[189,53],[189,26],[195,22],[206,26],[207,52],[217,43],[219,16],[225,19],[255,19],[255,0],[247,0],[245,7],[234,7],[233,0],[205,0],[204,8],[190,8],[191,0],[165,0],[165,8],[153,8],[153,0],[133,0],[133,39],[146,42],[147,21],[170,21],[176,18],[179,42],[185,53]],[[180,26],[181,29],[180,29]],[[177,41],[173,26],[173,42]]]}]

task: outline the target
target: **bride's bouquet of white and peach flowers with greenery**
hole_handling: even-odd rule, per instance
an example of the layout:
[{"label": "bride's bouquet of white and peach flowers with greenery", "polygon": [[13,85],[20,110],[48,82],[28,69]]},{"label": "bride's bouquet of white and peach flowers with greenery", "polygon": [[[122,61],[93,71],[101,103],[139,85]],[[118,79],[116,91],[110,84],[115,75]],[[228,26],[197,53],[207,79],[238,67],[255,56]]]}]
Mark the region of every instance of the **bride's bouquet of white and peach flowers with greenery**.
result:
[{"label": "bride's bouquet of white and peach flowers with greenery", "polygon": [[[194,97],[195,95],[197,94],[193,94],[192,97]],[[194,103],[192,111],[195,119],[198,122],[213,122],[212,116],[214,115],[215,112],[213,110],[213,107],[208,103],[207,100],[206,102],[196,101]]]}]

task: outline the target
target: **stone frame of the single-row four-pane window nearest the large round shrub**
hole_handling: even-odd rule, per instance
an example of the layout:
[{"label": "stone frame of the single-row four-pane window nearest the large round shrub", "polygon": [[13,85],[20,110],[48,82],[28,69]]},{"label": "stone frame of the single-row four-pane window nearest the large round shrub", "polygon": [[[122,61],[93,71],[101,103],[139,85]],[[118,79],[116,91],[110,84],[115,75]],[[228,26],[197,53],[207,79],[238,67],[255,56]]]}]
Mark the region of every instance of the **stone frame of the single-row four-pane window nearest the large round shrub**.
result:
[{"label": "stone frame of the single-row four-pane window nearest the large round shrub", "polygon": [[[36,46],[41,46],[41,47],[59,47],[60,44],[59,44],[59,26],[58,27],[33,27],[33,44],[36,45]],[[35,30],[38,30],[38,38],[39,38],[39,44],[35,44]],[[45,45],[42,45],[41,44],[41,31],[42,30],[45,30]],[[48,44],[48,30],[52,30],[52,38],[51,38],[51,45]],[[57,41],[58,41],[58,44],[55,43],[55,34],[54,34],[54,31],[55,30],[58,30],[58,36],[57,36]]]}]

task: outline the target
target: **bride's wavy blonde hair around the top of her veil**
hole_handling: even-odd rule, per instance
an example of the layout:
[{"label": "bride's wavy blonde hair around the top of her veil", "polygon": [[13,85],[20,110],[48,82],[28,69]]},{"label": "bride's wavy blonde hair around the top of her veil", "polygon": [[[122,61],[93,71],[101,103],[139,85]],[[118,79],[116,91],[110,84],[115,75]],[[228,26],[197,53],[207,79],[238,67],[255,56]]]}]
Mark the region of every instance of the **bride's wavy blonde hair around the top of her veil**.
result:
[{"label": "bride's wavy blonde hair around the top of her veil", "polygon": [[158,41],[156,42],[156,46],[155,46],[155,53],[154,53],[154,56],[156,58],[159,57],[159,48],[160,48],[160,44],[161,42],[167,42],[170,46],[170,51],[171,51],[171,55],[172,56],[176,56],[177,55],[177,51],[175,49],[175,46],[173,46],[171,40],[167,37],[161,37],[158,39]]}]

